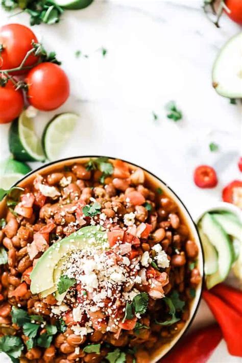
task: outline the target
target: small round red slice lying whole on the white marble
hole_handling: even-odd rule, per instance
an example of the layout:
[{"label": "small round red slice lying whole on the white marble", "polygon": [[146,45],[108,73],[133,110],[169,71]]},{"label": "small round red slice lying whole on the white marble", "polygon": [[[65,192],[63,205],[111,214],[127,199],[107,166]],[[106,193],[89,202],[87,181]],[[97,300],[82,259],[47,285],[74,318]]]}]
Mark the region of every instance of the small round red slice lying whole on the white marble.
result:
[{"label": "small round red slice lying whole on the white marble", "polygon": [[193,180],[199,188],[214,188],[217,185],[216,172],[208,165],[196,167]]}]

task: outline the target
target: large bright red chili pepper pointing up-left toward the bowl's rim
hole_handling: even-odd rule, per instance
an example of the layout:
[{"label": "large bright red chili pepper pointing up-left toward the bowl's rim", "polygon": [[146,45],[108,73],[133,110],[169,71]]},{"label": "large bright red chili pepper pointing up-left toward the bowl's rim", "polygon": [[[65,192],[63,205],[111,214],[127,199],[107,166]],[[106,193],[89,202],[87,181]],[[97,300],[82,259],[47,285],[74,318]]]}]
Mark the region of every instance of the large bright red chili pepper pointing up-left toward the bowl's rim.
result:
[{"label": "large bright red chili pepper pointing up-left toward the bowl's rim", "polygon": [[242,317],[219,297],[203,292],[203,298],[219,323],[231,355],[242,357]]}]

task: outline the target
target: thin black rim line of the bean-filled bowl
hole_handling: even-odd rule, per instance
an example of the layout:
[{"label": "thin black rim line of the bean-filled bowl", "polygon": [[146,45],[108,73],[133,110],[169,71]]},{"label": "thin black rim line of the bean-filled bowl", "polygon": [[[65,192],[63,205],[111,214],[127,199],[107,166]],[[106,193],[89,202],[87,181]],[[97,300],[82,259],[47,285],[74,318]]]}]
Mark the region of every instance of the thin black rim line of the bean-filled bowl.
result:
[{"label": "thin black rim line of the bean-filled bowl", "polygon": [[[115,159],[118,159],[118,160],[122,160],[124,162],[127,162],[128,164],[131,164],[131,165],[134,165],[136,167],[139,167],[141,168],[142,170],[144,170],[145,172],[147,172],[148,174],[152,175],[154,178],[158,179],[161,183],[163,183],[169,190],[171,190],[171,192],[176,196],[176,198],[179,200],[179,202],[182,204],[183,208],[185,209],[185,211],[187,212],[188,216],[190,217],[190,220],[193,224],[193,226],[195,227],[195,230],[197,232],[197,235],[198,235],[198,239],[199,239],[199,243],[200,243],[200,247],[201,247],[201,252],[202,252],[202,257],[203,257],[203,261],[202,261],[202,267],[203,267],[203,277],[202,277],[202,284],[201,284],[201,291],[200,291],[200,296],[199,296],[199,300],[197,302],[197,306],[193,312],[193,315],[187,325],[187,327],[185,328],[185,330],[183,331],[182,335],[180,336],[180,338],[177,340],[177,342],[162,356],[162,358],[164,358],[172,349],[174,349],[174,347],[178,344],[178,342],[181,340],[181,338],[187,333],[189,327],[191,326],[193,320],[195,319],[196,315],[197,315],[197,312],[198,312],[198,308],[200,306],[200,303],[201,303],[201,300],[202,300],[202,291],[203,291],[203,288],[204,288],[204,285],[205,285],[205,276],[204,276],[204,251],[203,251],[203,245],[202,245],[202,241],[201,241],[201,238],[200,238],[200,235],[199,235],[199,231],[198,231],[198,227],[195,223],[195,221],[193,221],[192,219],[192,216],[190,215],[187,207],[185,206],[185,204],[182,202],[182,200],[180,199],[180,197],[178,197],[177,193],[169,186],[167,185],[162,179],[158,178],[155,174],[153,174],[152,172],[150,172],[149,170],[147,170],[146,168],[140,166],[140,165],[137,165],[131,161],[127,161],[127,160],[124,160],[124,159],[121,159],[121,158],[115,158],[113,156],[105,156],[105,155],[82,155],[82,156],[70,156],[68,158],[63,158],[63,159],[59,159],[59,160],[55,160],[55,161],[50,161],[49,163],[46,163],[42,166],[39,166],[38,168],[36,168],[35,170],[32,170],[31,172],[29,172],[28,174],[26,174],[25,176],[23,176],[20,180],[18,180],[17,183],[15,183],[13,186],[19,184],[21,181],[25,180],[28,176],[40,171],[41,169],[43,169],[44,167],[48,167],[48,166],[51,166],[53,164],[56,164],[56,163],[59,163],[59,162],[63,162],[63,161],[68,161],[68,160],[75,160],[75,159],[81,159],[81,158],[100,158],[100,157],[104,157],[104,158],[108,158],[108,159],[111,159],[111,160],[115,160]],[[159,359],[162,359],[162,358],[159,358]]]}]

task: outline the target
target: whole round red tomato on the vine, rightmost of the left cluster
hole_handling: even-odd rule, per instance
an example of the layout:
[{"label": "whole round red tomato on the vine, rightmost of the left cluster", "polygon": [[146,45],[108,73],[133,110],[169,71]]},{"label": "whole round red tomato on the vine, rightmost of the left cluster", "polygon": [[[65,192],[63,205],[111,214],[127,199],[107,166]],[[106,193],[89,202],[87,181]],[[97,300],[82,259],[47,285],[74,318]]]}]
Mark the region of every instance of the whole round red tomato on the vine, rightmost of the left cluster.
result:
[{"label": "whole round red tomato on the vine, rightmost of the left cluster", "polygon": [[60,107],[69,96],[69,81],[61,67],[40,63],[27,75],[29,103],[38,110],[51,111]]}]

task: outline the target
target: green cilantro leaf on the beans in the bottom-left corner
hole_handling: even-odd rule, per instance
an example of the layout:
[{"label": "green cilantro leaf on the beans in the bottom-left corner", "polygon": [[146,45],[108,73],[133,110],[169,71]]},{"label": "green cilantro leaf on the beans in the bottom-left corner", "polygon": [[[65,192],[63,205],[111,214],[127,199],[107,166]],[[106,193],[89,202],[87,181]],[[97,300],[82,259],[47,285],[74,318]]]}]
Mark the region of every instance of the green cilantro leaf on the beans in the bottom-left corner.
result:
[{"label": "green cilantro leaf on the beans in the bottom-left corner", "polygon": [[6,353],[13,362],[17,362],[23,350],[23,343],[18,336],[4,335],[0,338],[0,352]]}]

